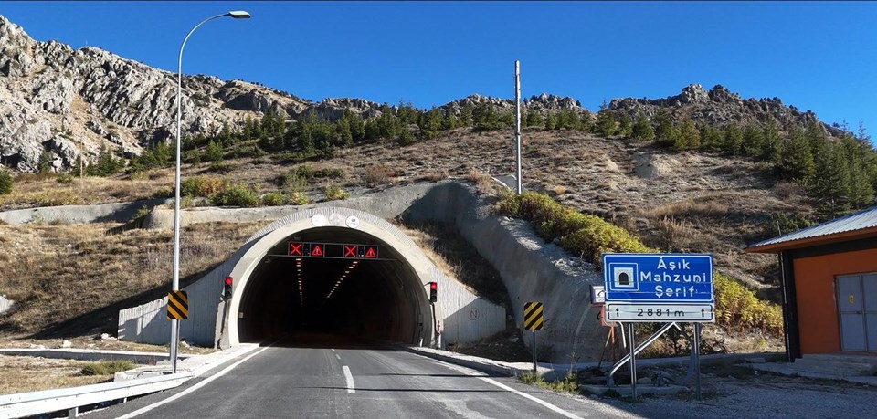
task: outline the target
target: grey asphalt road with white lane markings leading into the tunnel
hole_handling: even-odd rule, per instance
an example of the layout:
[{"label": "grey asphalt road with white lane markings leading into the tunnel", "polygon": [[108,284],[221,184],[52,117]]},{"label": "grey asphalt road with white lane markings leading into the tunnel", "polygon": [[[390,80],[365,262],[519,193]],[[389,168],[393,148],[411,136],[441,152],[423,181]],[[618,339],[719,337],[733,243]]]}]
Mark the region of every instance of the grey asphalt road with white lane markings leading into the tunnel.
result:
[{"label": "grey asphalt road with white lane markings leading into the tunnel", "polygon": [[632,416],[608,404],[545,392],[513,378],[333,336],[299,335],[238,361],[224,374],[217,368],[215,376],[86,417]]}]

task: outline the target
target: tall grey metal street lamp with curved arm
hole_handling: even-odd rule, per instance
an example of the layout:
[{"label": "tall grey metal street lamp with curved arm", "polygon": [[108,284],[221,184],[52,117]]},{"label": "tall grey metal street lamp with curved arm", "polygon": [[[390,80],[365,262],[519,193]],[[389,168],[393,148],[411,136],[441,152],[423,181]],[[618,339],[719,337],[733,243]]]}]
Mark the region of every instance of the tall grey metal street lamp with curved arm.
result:
[{"label": "tall grey metal street lamp with curved arm", "polygon": [[[206,24],[207,22],[218,19],[220,17],[232,17],[235,19],[248,19],[249,13],[243,10],[235,10],[222,15],[210,16],[202,20],[201,23],[195,25],[192,30],[183,38],[183,45],[180,46],[180,58],[176,74],[176,176],[174,179],[174,280],[171,285],[172,290],[176,291],[180,288],[180,145],[183,142],[181,135],[181,116],[183,113],[183,48],[185,41],[189,40],[195,29]],[[176,352],[180,344],[180,324],[179,320],[171,320],[171,359],[174,360],[174,373],[176,373]]]}]

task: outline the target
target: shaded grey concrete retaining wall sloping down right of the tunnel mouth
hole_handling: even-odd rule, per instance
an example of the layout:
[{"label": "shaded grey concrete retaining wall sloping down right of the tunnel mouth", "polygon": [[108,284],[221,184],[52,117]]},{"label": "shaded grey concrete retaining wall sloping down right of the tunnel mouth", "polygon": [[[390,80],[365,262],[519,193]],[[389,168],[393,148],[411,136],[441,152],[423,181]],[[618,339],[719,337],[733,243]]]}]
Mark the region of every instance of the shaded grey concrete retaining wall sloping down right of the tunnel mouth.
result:
[{"label": "shaded grey concrete retaining wall sloping down right of the tunnel mouth", "polygon": [[[515,322],[523,330],[523,304],[544,304],[545,330],[537,349],[551,361],[598,361],[606,339],[599,309],[589,304],[590,286],[603,279],[593,265],[546,244],[521,220],[491,215],[491,207],[460,183],[433,188],[403,215],[408,221],[455,225],[502,276],[512,299]],[[530,346],[529,331],[523,341]]]}]

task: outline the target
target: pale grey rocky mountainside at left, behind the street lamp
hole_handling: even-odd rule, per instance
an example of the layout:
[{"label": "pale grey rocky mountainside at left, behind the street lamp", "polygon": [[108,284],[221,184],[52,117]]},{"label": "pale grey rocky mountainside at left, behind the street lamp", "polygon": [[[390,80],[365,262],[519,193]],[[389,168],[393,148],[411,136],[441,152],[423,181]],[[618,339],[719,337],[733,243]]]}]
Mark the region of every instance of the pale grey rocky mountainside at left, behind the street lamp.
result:
[{"label": "pale grey rocky mountainside at left, behind the street lamp", "polygon": [[[0,16],[0,163],[21,172],[37,169],[48,152],[55,170],[88,162],[109,145],[143,151],[174,131],[176,75],[96,47],[38,42]],[[314,103],[275,89],[214,77],[183,78],[186,132],[215,133],[269,108],[296,118],[313,112],[333,119],[345,109],[375,116],[366,100]]]}]

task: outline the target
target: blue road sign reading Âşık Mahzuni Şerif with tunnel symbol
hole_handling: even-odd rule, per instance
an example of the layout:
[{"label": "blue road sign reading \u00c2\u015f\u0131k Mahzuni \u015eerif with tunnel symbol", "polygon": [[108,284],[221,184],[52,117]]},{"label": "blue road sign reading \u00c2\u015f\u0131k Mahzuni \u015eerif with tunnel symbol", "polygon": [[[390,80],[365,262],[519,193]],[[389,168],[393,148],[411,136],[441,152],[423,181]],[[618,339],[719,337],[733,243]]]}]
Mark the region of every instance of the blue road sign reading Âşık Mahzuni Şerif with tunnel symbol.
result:
[{"label": "blue road sign reading \u00c2\u015f\u0131k Mahzuni \u015eerif with tunnel symbol", "polygon": [[713,255],[605,253],[606,302],[713,304]]}]

